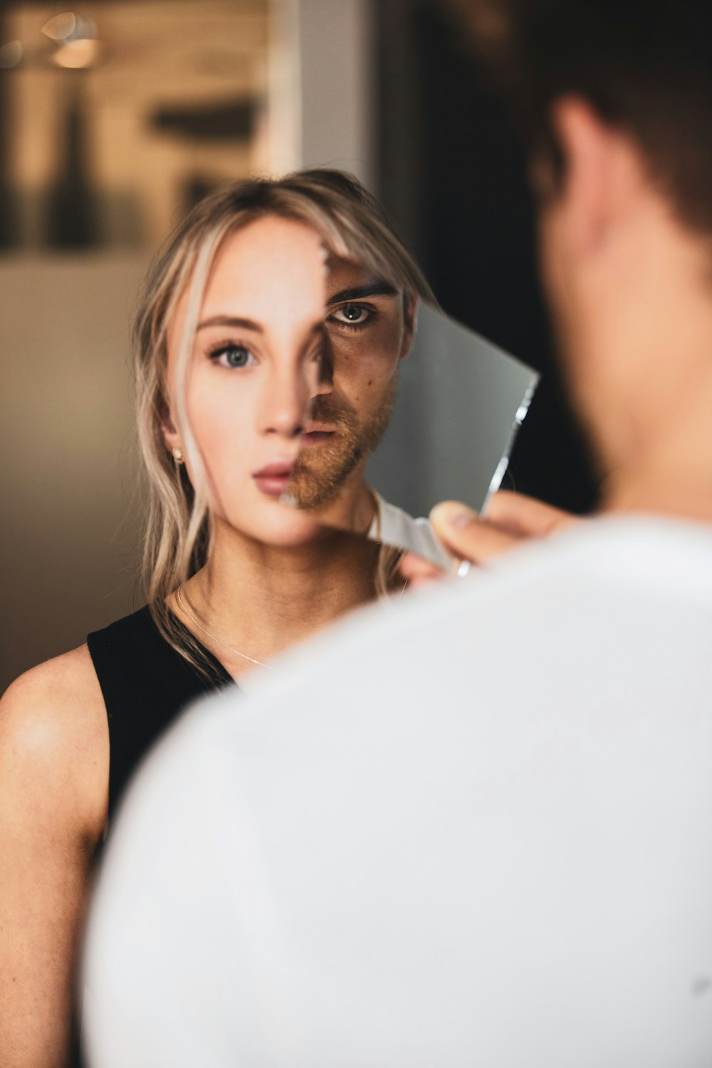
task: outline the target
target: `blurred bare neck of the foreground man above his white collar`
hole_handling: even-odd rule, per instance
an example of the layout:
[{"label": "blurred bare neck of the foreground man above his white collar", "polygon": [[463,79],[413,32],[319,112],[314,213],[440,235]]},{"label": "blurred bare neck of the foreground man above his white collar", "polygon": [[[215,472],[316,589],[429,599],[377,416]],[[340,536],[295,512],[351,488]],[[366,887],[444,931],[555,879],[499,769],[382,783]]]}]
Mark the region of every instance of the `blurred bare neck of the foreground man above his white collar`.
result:
[{"label": "blurred bare neck of the foreground man above his white collar", "polygon": [[624,253],[582,284],[572,384],[607,472],[605,511],[712,522],[709,246],[648,200]]}]

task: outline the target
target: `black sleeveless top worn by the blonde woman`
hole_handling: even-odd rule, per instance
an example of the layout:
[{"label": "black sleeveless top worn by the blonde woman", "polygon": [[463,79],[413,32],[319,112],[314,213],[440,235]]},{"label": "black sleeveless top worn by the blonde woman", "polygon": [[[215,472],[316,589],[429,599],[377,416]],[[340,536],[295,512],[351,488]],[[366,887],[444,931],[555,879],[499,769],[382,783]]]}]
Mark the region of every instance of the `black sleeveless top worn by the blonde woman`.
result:
[{"label": "black sleeveless top worn by the blonde woman", "polygon": [[86,638],[109,720],[109,824],[141,757],[194,701],[235,686],[220,661],[201,646],[210,677],[165,641],[148,607]]}]

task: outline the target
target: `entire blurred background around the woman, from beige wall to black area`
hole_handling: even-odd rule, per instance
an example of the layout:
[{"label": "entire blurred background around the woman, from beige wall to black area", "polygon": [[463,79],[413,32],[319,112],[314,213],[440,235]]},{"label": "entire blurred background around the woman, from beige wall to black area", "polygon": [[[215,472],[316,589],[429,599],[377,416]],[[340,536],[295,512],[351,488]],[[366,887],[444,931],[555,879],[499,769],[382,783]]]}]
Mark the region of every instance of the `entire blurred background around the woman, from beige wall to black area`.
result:
[{"label": "entire blurred background around the woman, from beige wall to black area", "polygon": [[142,603],[128,330],[207,190],[301,166],[379,194],[450,314],[544,373],[519,488],[595,482],[560,397],[524,161],[441,0],[0,0],[0,687]]}]

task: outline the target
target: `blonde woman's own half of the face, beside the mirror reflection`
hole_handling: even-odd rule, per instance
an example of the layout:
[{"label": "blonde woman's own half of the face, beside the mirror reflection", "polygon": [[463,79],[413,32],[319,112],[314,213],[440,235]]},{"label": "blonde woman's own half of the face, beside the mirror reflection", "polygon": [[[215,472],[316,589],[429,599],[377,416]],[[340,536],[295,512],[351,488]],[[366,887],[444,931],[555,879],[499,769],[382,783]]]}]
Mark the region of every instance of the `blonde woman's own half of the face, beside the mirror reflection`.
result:
[{"label": "blonde woman's own half of the face, beside the mirror reflection", "polygon": [[[319,392],[325,255],[308,226],[266,217],[230,235],[210,271],[186,372],[190,428],[218,522],[256,540],[292,545],[320,530],[280,503]],[[191,458],[176,419],[176,366],[188,293],[168,331],[169,449]]]}]

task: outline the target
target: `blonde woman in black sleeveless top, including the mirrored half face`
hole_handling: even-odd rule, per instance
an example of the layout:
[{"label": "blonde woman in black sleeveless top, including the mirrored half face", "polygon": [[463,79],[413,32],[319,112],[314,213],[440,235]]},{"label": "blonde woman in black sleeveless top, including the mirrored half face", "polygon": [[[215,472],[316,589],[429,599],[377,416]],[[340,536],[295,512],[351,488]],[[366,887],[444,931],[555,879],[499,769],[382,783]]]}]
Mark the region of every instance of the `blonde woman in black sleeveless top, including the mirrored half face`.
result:
[{"label": "blonde woman in black sleeveless top, including the mirrored half face", "polygon": [[0,703],[4,1068],[65,1063],[93,861],[148,745],[387,586],[378,546],[325,521],[382,518],[363,469],[418,297],[379,205],[331,171],[220,190],[151,271],[135,333],[147,606]]}]

